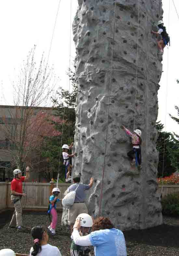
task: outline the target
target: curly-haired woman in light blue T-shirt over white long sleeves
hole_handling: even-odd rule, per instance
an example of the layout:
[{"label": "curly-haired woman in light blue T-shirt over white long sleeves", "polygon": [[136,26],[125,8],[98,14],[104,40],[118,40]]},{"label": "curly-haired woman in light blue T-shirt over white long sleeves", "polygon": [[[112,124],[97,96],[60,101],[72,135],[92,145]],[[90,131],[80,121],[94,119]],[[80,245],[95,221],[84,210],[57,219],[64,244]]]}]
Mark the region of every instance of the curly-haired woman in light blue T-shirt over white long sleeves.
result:
[{"label": "curly-haired woman in light blue T-shirt over white long sleeves", "polygon": [[94,220],[91,233],[80,236],[81,221],[76,219],[73,240],[79,246],[94,246],[95,256],[127,256],[125,238],[121,230],[115,229],[106,217]]}]

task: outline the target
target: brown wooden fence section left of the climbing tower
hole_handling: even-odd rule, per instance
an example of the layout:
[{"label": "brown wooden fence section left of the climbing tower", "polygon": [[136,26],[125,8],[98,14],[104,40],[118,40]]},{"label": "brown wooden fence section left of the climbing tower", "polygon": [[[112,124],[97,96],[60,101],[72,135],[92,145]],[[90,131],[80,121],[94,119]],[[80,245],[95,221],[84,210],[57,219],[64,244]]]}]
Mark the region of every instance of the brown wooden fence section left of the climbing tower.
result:
[{"label": "brown wooden fence section left of the climbing tower", "polygon": [[[63,198],[63,194],[70,184],[59,183],[60,196]],[[24,193],[27,197],[22,197],[22,206],[24,209],[47,209],[49,204],[49,196],[51,195],[52,189],[56,187],[56,183],[23,183]],[[10,182],[0,182],[0,210],[7,208],[14,208],[10,201]],[[62,209],[62,203],[59,202],[57,209]]]}]

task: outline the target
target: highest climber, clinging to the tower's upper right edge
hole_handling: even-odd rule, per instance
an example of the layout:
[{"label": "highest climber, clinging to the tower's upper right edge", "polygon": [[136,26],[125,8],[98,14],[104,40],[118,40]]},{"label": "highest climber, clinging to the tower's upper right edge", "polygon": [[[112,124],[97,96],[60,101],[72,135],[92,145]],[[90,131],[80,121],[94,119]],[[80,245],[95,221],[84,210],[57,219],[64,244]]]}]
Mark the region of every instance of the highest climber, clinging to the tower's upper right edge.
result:
[{"label": "highest climber, clinging to the tower's upper right edge", "polygon": [[155,34],[155,35],[161,35],[162,36],[162,39],[160,41],[157,42],[158,44],[158,49],[159,49],[159,54],[163,54],[163,49],[166,45],[168,45],[168,43],[170,42],[170,37],[169,35],[167,34],[167,31],[166,31],[166,27],[163,26],[163,21],[160,20],[158,21],[157,23],[157,26],[158,26],[158,32],[155,32],[155,31],[151,31],[152,34]]}]

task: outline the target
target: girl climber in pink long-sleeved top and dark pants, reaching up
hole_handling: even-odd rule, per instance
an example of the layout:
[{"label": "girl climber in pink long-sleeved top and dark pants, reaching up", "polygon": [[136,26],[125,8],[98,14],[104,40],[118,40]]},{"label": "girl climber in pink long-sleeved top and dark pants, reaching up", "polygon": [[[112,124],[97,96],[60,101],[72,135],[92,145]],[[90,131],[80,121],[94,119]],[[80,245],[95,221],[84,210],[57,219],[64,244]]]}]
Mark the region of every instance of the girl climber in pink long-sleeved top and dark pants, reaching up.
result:
[{"label": "girl climber in pink long-sleeved top and dark pants, reaching up", "polygon": [[[134,130],[132,133],[130,130],[122,126],[125,132],[131,137],[132,150],[127,153],[128,157],[131,159],[131,165],[138,165],[139,170],[141,169],[141,144],[142,132],[139,129]],[[135,155],[135,158],[134,158]]]}]

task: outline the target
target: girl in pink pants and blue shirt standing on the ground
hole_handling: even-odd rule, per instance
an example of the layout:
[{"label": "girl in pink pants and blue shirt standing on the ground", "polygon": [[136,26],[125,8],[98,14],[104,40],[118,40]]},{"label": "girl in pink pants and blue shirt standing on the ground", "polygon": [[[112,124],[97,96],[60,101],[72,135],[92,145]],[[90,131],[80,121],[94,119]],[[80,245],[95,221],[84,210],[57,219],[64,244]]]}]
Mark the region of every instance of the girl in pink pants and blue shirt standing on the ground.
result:
[{"label": "girl in pink pants and blue shirt standing on the ground", "polygon": [[58,188],[53,188],[52,190],[52,196],[50,196],[49,198],[49,207],[48,207],[48,214],[52,215],[52,222],[50,224],[50,226],[48,227],[48,229],[50,230],[50,232],[54,235],[55,234],[55,229],[57,226],[57,210],[56,210],[56,204],[57,202],[60,201],[60,199],[58,198],[58,195],[60,193],[60,189]]}]

